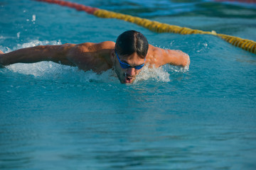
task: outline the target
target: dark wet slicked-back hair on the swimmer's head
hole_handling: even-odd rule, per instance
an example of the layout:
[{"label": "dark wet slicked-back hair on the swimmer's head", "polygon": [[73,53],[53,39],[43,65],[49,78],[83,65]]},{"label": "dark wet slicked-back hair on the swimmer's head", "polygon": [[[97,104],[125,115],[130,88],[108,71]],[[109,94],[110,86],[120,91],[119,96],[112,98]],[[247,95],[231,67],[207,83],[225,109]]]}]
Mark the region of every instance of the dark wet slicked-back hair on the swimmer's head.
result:
[{"label": "dark wet slicked-back hair on the swimmer's head", "polygon": [[115,50],[118,55],[123,56],[137,52],[137,55],[144,59],[149,50],[149,42],[142,33],[136,30],[127,30],[118,36]]}]

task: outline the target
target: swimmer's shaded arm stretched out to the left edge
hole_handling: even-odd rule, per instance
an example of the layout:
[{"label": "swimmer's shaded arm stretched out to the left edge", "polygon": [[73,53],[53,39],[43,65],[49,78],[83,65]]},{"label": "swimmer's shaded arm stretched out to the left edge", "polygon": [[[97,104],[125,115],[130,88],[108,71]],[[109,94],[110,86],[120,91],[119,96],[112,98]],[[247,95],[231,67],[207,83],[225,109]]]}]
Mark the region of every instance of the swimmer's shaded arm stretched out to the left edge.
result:
[{"label": "swimmer's shaded arm stretched out to the left edge", "polygon": [[74,47],[73,44],[65,45],[38,45],[27,47],[4,54],[0,51],[0,65],[15,64],[18,62],[32,63],[41,61],[52,61],[73,66],[67,59],[68,51]]}]

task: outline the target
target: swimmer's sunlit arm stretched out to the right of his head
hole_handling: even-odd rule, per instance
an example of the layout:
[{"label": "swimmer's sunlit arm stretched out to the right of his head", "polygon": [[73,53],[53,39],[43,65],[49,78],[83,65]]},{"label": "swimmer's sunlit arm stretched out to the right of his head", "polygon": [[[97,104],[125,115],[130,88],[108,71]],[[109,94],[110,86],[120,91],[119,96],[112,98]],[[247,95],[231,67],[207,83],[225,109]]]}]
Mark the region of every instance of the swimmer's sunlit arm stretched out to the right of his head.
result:
[{"label": "swimmer's sunlit arm stretched out to the right of his head", "polygon": [[[172,64],[176,66],[186,67],[190,64],[189,56],[180,50],[164,50],[159,47],[154,47],[149,45],[149,54],[154,56],[154,61],[151,64],[155,64],[156,67],[159,67],[164,64]],[[149,55],[150,56],[150,55]]]}]

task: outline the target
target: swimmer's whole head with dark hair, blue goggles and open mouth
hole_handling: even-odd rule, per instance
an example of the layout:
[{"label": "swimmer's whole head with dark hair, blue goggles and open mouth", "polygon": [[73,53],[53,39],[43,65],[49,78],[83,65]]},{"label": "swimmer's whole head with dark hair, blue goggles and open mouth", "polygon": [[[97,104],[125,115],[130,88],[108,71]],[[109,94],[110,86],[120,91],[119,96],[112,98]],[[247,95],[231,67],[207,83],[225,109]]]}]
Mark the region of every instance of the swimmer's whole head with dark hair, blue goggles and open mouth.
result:
[{"label": "swimmer's whole head with dark hair, blue goggles and open mouth", "polygon": [[131,84],[145,64],[149,43],[136,30],[127,30],[118,36],[112,61],[122,84]]}]

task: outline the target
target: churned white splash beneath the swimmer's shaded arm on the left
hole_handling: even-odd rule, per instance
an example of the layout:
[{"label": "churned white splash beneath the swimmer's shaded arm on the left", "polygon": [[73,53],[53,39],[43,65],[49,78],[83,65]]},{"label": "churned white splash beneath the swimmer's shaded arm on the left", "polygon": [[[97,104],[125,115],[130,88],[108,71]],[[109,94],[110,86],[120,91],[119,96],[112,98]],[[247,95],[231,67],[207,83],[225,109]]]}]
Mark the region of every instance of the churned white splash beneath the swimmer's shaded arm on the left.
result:
[{"label": "churned white splash beneath the swimmer's shaded arm on the left", "polygon": [[12,72],[19,74],[33,75],[36,79],[46,79],[62,82],[87,83],[91,81],[99,82],[119,82],[112,69],[97,74],[96,72],[84,72],[78,67],[70,67],[55,62],[37,62],[31,64],[11,64],[6,67]]}]

